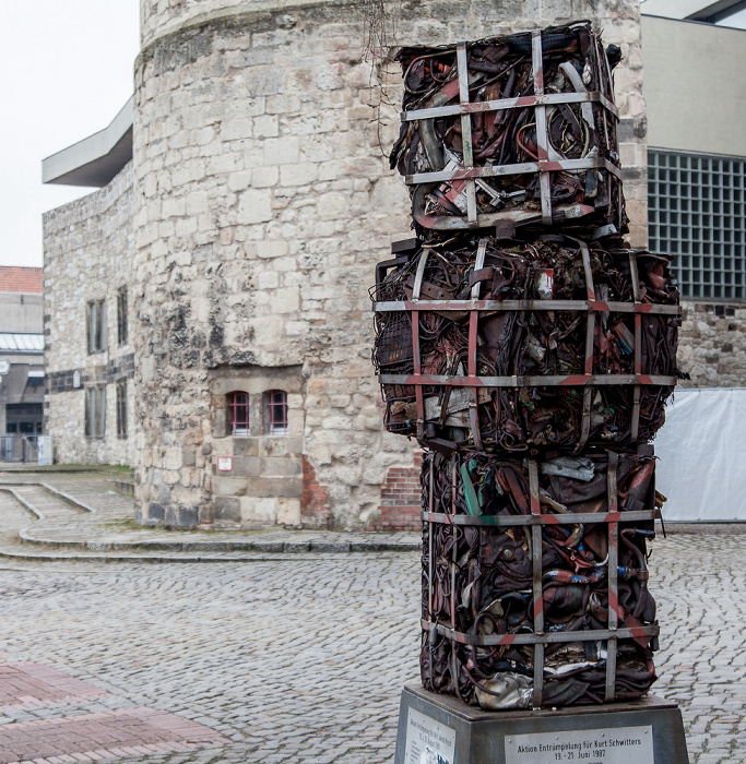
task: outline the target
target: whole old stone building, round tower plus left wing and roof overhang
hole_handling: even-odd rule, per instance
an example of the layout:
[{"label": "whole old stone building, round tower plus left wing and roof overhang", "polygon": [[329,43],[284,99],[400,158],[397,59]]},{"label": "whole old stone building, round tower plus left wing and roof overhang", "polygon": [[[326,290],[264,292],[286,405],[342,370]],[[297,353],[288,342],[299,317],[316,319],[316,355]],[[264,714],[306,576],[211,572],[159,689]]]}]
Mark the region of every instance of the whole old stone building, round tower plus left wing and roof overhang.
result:
[{"label": "whole old stone building, round tower plus left wing and roof overhang", "polygon": [[[625,192],[644,246],[637,3],[391,11],[395,45],[594,19],[624,53]],[[100,187],[45,216],[57,458],[133,465],[143,523],[376,527],[415,508],[415,444],[382,431],[370,366],[367,291],[408,199],[384,156],[399,117],[381,86],[395,104],[399,75],[365,56],[363,5],[143,0],[141,21],[131,104],[45,160],[47,182]]]}]

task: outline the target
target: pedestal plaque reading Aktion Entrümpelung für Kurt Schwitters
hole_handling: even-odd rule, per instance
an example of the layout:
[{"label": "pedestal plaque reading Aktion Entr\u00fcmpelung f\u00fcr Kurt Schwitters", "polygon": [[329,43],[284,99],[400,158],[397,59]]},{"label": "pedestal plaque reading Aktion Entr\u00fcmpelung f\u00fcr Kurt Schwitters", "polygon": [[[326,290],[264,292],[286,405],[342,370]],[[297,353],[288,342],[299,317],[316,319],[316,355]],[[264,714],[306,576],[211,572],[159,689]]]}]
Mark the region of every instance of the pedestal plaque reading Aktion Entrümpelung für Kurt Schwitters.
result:
[{"label": "pedestal plaque reading Aktion Entr\u00fcmpelung f\u00fcr Kurt Schwitters", "polygon": [[[541,735],[511,735],[505,739],[506,764],[602,762],[655,764],[652,727],[569,729]],[[406,760],[407,764],[410,760]]]}]

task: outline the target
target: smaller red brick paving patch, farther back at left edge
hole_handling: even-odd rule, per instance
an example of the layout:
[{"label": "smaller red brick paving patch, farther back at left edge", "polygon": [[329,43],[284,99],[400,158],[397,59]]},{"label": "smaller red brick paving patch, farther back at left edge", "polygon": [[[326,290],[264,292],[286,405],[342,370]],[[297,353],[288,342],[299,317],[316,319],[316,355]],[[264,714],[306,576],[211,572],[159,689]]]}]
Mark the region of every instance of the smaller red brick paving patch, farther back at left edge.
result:
[{"label": "smaller red brick paving patch, farther back at left edge", "polygon": [[11,708],[49,707],[106,694],[106,690],[48,666],[34,662],[0,664],[0,713]]}]

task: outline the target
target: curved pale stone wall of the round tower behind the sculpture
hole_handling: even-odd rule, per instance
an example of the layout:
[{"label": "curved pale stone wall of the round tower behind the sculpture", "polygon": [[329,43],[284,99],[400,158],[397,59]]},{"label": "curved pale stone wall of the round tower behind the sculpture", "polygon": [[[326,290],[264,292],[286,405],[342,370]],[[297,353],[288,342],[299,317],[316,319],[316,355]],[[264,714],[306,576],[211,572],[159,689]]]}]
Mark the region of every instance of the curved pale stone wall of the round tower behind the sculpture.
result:
[{"label": "curved pale stone wall of the round tower behind the sculpture", "polygon": [[[390,468],[411,466],[413,452],[381,430],[370,366],[367,290],[392,237],[408,229],[408,198],[380,148],[399,119],[395,108],[377,119],[381,72],[363,60],[363,5],[143,0],[141,11],[141,518],[359,527]],[[625,190],[644,240],[637,3],[423,0],[398,13],[399,45],[597,20],[626,57]],[[395,104],[393,68],[389,79]],[[226,438],[226,393],[274,387],[288,392],[287,437],[259,428]],[[217,471],[217,456],[233,456],[230,474]]]}]

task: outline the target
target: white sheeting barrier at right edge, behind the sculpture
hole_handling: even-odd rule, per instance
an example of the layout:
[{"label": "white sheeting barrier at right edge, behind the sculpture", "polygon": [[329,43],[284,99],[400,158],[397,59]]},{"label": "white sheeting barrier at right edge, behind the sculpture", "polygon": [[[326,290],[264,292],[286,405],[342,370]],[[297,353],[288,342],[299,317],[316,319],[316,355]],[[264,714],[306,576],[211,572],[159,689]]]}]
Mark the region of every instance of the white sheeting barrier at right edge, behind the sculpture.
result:
[{"label": "white sheeting barrier at right edge, behind the sculpture", "polygon": [[664,521],[746,522],[746,387],[677,390],[655,455]]}]

